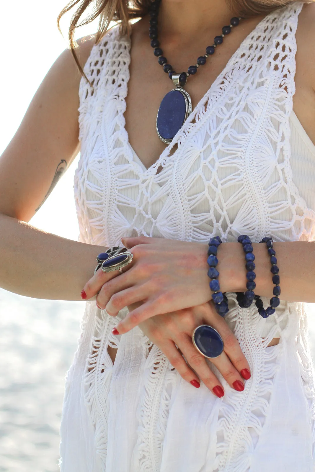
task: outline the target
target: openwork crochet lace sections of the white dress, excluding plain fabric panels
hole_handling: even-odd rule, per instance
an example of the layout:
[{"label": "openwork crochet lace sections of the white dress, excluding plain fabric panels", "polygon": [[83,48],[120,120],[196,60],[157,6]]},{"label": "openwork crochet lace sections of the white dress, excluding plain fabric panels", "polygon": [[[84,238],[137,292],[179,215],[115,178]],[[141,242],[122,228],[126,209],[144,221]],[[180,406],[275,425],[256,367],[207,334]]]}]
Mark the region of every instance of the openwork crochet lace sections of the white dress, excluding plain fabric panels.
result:
[{"label": "openwork crochet lace sections of the white dress, excluding plain fabric panels", "polygon": [[[256,26],[149,169],[135,160],[125,129],[130,40],[121,37],[116,26],[93,47],[85,65],[93,87],[83,78],[79,89],[81,158],[74,190],[81,242],[112,246],[120,244],[122,236],[137,235],[191,242],[220,236],[227,242],[244,233],[253,242],[266,235],[274,241],[314,238],[315,212],[298,194],[289,162],[295,32],[301,8],[298,2],[290,4]],[[242,132],[236,132],[236,123],[241,123]],[[226,320],[255,376],[242,396],[222,380],[226,394],[218,399],[212,472],[246,472],[288,340],[292,344],[297,339],[293,344],[300,358],[313,443],[315,395],[303,305],[281,303],[268,336],[262,338],[265,320],[255,307],[239,309],[234,295],[228,295],[231,308]],[[138,343],[144,362],[134,470],[158,472],[179,374],[157,346],[148,354],[152,343],[140,329],[120,340],[111,335],[127,309],[113,319],[92,305],[87,305],[85,314],[85,324],[93,324],[94,333],[86,364],[85,402],[102,471],[106,470],[113,367],[107,346],[118,348],[118,357],[124,342]],[[280,344],[266,350],[279,333]]]}]

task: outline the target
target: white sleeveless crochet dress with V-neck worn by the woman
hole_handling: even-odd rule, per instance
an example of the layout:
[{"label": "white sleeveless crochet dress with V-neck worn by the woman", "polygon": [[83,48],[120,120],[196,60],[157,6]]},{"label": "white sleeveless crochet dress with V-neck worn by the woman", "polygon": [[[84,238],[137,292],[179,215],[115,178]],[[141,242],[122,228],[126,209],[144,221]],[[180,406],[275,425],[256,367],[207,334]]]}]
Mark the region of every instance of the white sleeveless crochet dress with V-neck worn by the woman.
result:
[{"label": "white sleeveless crochet dress with V-neck worn by the woman", "polygon": [[[149,169],[124,127],[130,41],[115,27],[94,46],[85,64],[94,90],[85,79],[79,90],[81,242],[313,238],[315,208],[299,194],[290,165],[301,8],[296,2],[257,25]],[[203,382],[198,389],[185,382],[157,346],[148,354],[152,343],[138,327],[112,336],[127,308],[112,318],[95,301],[86,303],[67,376],[62,472],[314,471],[315,391],[303,304],[283,301],[264,320],[228,295],[226,320],[252,377],[237,392],[216,371],[225,389],[220,399]],[[266,347],[275,336],[279,345]],[[118,346],[114,365],[108,345]]]}]

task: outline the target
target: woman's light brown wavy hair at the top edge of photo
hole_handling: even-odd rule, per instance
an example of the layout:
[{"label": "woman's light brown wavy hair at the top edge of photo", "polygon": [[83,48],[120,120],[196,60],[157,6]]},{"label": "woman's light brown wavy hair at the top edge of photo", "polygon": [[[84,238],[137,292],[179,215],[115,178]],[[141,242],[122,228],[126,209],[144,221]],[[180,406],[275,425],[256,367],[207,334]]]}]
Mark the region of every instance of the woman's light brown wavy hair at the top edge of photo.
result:
[{"label": "woman's light brown wavy hair at the top edge of photo", "polygon": [[[294,0],[225,0],[234,15],[251,17],[267,14],[276,8],[285,7]],[[309,0],[301,0],[303,3],[311,3]],[[99,18],[99,26],[95,36],[95,43],[101,41],[111,21],[120,23],[121,34],[130,33],[129,20],[144,17],[149,12],[150,0],[70,0],[63,8],[57,18],[57,26],[60,31],[60,19],[69,10],[78,5],[77,10],[71,18],[68,32],[69,46],[82,76],[85,73],[79,64],[76,54],[77,42],[74,33],[77,27],[87,25]],[[86,8],[92,6],[93,13],[80,22]],[[60,31],[61,33],[61,31]],[[87,79],[87,77],[85,76]]]}]

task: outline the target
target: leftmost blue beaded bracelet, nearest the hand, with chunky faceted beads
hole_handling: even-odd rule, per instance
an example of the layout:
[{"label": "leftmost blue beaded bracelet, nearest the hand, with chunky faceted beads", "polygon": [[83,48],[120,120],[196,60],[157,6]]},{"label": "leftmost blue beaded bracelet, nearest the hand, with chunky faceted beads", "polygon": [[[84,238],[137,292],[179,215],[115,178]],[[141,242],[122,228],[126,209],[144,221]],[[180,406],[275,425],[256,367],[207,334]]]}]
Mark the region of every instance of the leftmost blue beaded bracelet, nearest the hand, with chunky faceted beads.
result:
[{"label": "leftmost blue beaded bracelet, nearest the hand, with chunky faceted beads", "polygon": [[220,284],[219,284],[219,272],[216,269],[218,264],[217,253],[218,253],[218,246],[222,243],[219,236],[212,237],[208,243],[208,277],[211,278],[211,282],[209,283],[210,289],[213,291],[212,299],[214,302],[214,306],[216,311],[221,316],[225,316],[229,311],[228,306],[228,297],[225,294],[222,294],[220,291]]}]

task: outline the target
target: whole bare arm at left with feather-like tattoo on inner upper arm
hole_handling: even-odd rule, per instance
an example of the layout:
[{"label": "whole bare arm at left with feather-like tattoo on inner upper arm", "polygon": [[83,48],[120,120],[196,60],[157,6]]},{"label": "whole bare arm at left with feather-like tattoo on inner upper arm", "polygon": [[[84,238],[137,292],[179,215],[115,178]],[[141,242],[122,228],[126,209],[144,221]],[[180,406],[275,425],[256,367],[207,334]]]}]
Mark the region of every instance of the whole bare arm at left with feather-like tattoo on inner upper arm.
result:
[{"label": "whole bare arm at left with feather-like tattoo on inner upper arm", "polygon": [[[93,44],[94,37],[79,41],[82,65]],[[21,295],[80,300],[95,257],[104,250],[27,224],[79,152],[80,78],[70,51],[64,51],[0,158],[0,287]]]}]

